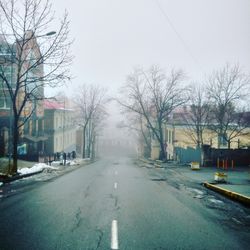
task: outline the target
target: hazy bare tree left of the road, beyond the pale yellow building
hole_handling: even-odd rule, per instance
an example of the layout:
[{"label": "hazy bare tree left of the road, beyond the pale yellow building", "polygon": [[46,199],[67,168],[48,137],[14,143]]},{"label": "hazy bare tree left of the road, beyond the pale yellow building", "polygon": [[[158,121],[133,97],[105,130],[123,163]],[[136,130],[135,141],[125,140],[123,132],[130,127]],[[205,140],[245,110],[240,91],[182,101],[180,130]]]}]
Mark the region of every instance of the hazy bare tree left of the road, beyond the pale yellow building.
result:
[{"label": "hazy bare tree left of the road, beyond the pale yellow building", "polygon": [[96,136],[107,115],[104,107],[107,103],[106,90],[99,86],[83,84],[77,89],[74,100],[79,112],[77,123],[83,129],[82,157],[90,158],[91,154],[95,154]]}]

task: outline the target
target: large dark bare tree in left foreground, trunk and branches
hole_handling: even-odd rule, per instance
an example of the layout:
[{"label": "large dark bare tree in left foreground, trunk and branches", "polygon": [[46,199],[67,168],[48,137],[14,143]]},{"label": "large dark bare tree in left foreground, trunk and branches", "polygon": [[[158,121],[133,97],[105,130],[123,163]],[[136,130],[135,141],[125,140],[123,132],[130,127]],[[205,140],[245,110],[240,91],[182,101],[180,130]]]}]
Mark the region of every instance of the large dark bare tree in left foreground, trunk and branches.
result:
[{"label": "large dark bare tree in left foreground, trunk and branches", "polygon": [[[12,173],[17,172],[20,129],[41,105],[44,87],[62,84],[69,76],[67,66],[72,58],[67,13],[56,34],[48,30],[53,21],[49,0],[0,0],[1,54],[6,54],[1,56],[0,80],[3,94],[10,98],[13,116]],[[8,67],[11,77],[7,75]]]}]

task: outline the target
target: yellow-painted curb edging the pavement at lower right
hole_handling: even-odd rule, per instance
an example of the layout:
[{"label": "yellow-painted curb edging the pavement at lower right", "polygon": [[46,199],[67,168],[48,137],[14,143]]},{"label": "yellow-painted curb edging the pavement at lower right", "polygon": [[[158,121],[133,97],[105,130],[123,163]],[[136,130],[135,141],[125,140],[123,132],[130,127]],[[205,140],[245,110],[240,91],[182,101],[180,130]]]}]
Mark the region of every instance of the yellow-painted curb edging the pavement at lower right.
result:
[{"label": "yellow-painted curb edging the pavement at lower right", "polygon": [[245,205],[247,207],[250,207],[250,197],[248,197],[248,196],[245,196],[245,195],[242,195],[242,194],[239,194],[239,193],[236,193],[236,192],[229,191],[227,189],[218,187],[218,186],[213,185],[213,184],[208,183],[208,182],[204,182],[203,185],[206,188],[209,188],[209,189],[211,189],[211,190],[213,190],[215,192],[223,194],[223,195],[225,195],[226,197],[229,197],[232,200],[238,201],[238,202],[242,203],[243,205]]}]

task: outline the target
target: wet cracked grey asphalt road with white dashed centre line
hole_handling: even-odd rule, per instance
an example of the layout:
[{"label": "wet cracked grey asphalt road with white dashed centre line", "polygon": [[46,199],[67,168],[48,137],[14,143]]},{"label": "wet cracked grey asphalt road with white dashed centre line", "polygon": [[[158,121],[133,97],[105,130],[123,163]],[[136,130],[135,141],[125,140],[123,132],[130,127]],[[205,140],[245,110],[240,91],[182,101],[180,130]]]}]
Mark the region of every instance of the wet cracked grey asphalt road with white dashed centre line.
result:
[{"label": "wet cracked grey asphalt road with white dashed centre line", "polygon": [[[0,200],[0,249],[247,249],[216,209],[129,158],[107,158]],[[249,235],[246,233],[246,235]]]}]

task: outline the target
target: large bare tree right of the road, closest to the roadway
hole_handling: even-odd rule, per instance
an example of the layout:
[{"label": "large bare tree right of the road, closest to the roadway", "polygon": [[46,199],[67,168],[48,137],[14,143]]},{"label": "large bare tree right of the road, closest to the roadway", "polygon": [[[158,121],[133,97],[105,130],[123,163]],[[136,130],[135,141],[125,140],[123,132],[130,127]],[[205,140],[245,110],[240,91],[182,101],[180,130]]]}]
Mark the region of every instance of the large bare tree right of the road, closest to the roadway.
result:
[{"label": "large bare tree right of the road, closest to the roadway", "polygon": [[136,69],[127,77],[122,88],[122,107],[142,117],[152,136],[159,143],[159,159],[166,160],[164,124],[171,112],[186,101],[186,90],[181,85],[184,79],[182,71],[172,70],[165,74],[158,67],[145,71]]}]

